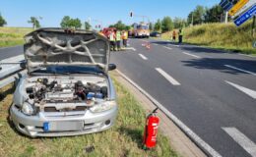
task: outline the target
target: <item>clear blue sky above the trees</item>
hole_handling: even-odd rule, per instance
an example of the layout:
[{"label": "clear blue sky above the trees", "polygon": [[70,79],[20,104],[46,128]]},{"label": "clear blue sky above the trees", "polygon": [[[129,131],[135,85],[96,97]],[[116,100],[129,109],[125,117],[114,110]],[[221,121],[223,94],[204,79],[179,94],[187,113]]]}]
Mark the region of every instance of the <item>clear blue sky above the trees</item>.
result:
[{"label": "clear blue sky above the trees", "polygon": [[[212,7],[221,0],[0,0],[0,13],[7,26],[32,26],[30,17],[42,17],[41,26],[60,26],[64,16],[79,18],[92,26],[139,23],[147,16],[156,22],[164,16],[187,18],[197,5]],[[135,17],[130,18],[130,12]]]}]

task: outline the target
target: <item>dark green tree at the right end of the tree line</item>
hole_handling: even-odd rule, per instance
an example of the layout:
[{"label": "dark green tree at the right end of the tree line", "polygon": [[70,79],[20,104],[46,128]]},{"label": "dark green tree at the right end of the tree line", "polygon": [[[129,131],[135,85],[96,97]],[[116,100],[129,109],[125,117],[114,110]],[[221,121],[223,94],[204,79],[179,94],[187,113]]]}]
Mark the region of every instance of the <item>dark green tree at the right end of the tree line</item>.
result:
[{"label": "dark green tree at the right end of the tree line", "polygon": [[217,23],[221,22],[224,10],[220,5],[208,9],[205,14],[205,23]]}]

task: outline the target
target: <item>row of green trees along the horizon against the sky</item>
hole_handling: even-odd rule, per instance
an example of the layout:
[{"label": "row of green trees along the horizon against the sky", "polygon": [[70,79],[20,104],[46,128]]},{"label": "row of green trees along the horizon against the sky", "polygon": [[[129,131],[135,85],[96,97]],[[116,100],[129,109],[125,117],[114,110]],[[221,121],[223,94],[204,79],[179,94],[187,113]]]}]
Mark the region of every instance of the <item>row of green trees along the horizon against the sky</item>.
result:
[{"label": "row of green trees along the horizon against the sky", "polygon": [[[169,31],[173,28],[181,28],[184,26],[193,26],[193,25],[201,25],[204,23],[218,23],[224,21],[224,10],[220,5],[215,5],[211,8],[207,8],[204,6],[198,5],[193,11],[191,11],[187,19],[182,18],[174,18],[171,19],[170,17],[166,16],[163,17],[162,20],[157,20],[156,23],[150,23],[150,29],[156,31]],[[37,28],[40,27],[40,23],[38,18],[31,17],[28,23],[32,24],[32,27]],[[7,22],[0,14],[0,26],[7,25]],[[74,28],[82,28],[82,22],[80,19],[70,18],[69,16],[63,17],[60,23],[61,27],[74,27]],[[92,26],[89,22],[84,23],[85,29],[92,29]],[[131,26],[126,26],[121,21],[118,21],[114,25],[110,25],[109,27],[116,27],[118,29],[130,29]],[[101,29],[102,26],[98,25],[96,28]]]}]

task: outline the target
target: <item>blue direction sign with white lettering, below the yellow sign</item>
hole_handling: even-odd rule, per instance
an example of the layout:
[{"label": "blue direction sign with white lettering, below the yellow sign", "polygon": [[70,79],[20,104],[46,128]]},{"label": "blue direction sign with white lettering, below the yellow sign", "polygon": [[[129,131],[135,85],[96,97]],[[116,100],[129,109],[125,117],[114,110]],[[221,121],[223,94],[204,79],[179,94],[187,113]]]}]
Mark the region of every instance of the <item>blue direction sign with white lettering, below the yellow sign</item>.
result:
[{"label": "blue direction sign with white lettering, below the yellow sign", "polygon": [[243,13],[240,17],[238,17],[234,24],[236,26],[241,26],[243,23],[248,21],[253,16],[256,16],[256,5],[253,5],[249,10],[247,10],[245,13]]}]

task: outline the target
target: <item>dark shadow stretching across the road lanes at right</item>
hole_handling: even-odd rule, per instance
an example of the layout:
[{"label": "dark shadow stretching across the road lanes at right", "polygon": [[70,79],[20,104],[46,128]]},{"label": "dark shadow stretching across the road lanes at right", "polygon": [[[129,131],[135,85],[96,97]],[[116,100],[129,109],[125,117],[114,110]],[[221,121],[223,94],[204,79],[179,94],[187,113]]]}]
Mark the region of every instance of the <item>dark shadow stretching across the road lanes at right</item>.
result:
[{"label": "dark shadow stretching across the road lanes at right", "polygon": [[227,68],[224,65],[230,65],[232,67],[256,73],[256,61],[252,60],[202,58],[181,62],[184,63],[184,66],[194,67],[197,69],[219,70],[223,73],[228,73],[231,75],[247,73]]}]

